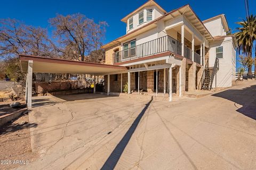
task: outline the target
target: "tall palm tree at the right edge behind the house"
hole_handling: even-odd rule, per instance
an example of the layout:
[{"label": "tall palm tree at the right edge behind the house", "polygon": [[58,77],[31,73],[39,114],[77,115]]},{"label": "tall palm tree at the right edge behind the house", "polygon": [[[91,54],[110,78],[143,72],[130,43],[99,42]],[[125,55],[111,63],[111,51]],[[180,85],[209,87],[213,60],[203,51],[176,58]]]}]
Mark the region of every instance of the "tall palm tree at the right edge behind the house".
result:
[{"label": "tall palm tree at the right edge behind the house", "polygon": [[[250,15],[246,20],[237,22],[242,27],[236,28],[235,33],[238,53],[246,54],[252,60],[253,41],[256,39],[256,16]],[[248,77],[252,78],[252,64],[248,65]]]}]

